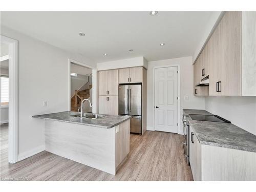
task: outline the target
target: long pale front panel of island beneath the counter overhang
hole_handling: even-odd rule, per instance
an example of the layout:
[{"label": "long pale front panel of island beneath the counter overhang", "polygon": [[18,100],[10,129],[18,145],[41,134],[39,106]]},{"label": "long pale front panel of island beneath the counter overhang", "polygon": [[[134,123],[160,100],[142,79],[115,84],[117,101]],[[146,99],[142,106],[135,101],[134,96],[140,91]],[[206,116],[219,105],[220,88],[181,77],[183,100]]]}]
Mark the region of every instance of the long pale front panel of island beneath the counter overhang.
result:
[{"label": "long pale front panel of island beneath the counter overhang", "polygon": [[45,148],[53,154],[115,175],[116,127],[45,120]]}]

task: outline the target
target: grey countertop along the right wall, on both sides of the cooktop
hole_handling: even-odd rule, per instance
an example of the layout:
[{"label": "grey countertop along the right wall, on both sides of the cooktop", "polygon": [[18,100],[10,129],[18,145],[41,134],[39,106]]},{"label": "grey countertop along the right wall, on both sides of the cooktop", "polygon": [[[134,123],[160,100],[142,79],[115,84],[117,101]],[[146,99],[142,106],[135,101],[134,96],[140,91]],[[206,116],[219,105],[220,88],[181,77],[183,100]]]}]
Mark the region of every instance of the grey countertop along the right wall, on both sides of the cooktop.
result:
[{"label": "grey countertop along the right wall, on both sides of the cooktop", "polygon": [[[205,110],[183,109],[185,115],[213,115]],[[196,121],[186,117],[201,144],[256,153],[256,136],[231,123]]]}]

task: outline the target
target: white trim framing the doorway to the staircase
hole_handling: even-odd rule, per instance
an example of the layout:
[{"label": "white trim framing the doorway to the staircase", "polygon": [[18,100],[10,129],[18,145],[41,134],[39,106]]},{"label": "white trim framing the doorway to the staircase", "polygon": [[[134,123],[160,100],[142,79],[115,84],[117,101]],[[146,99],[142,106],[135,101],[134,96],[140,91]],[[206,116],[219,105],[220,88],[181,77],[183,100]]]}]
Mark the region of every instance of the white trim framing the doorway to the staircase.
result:
[{"label": "white trim framing the doorway to the staircase", "polygon": [[79,62],[79,61],[76,61],[74,59],[68,59],[68,110],[70,111],[71,110],[71,95],[70,95],[70,92],[71,92],[71,84],[70,84],[70,80],[71,80],[71,77],[70,77],[70,65],[71,65],[71,62],[73,63],[76,63],[77,65],[79,66],[83,66],[83,67],[87,67],[87,68],[90,68],[92,69],[92,83],[93,83],[93,87],[92,87],[92,94],[93,94],[93,97],[92,97],[92,103],[93,103],[93,109],[92,109],[92,112],[93,113],[97,113],[97,69],[93,66],[89,66],[85,63],[82,63],[82,62]]}]

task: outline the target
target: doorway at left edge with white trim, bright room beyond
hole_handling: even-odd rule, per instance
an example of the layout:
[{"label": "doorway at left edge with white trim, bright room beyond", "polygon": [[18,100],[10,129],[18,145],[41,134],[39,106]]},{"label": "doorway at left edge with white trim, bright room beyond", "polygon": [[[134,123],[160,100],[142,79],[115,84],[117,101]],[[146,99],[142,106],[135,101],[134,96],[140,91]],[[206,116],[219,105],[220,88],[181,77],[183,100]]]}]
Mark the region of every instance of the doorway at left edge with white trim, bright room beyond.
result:
[{"label": "doorway at left edge with white trim, bright room beyond", "polygon": [[1,35],[0,139],[1,166],[18,161],[18,42]]}]

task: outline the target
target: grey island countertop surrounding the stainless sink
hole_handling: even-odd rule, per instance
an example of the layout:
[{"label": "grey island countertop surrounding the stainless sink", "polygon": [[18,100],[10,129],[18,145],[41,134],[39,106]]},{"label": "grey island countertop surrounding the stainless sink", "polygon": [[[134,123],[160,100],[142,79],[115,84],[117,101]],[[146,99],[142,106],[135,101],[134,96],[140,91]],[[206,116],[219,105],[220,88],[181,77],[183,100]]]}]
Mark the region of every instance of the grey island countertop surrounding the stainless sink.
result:
[{"label": "grey island countertop surrounding the stainless sink", "polygon": [[32,117],[39,119],[47,119],[53,121],[67,122],[73,124],[87,125],[87,126],[96,126],[105,129],[112,128],[127,119],[130,119],[130,116],[121,116],[121,115],[106,115],[105,117],[101,117],[98,119],[87,119],[80,117],[71,117],[71,115],[77,115],[78,112],[59,112],[59,113],[50,113],[44,115],[34,115]]}]

